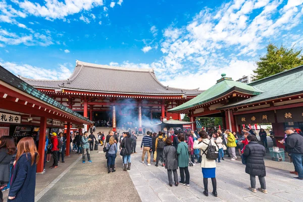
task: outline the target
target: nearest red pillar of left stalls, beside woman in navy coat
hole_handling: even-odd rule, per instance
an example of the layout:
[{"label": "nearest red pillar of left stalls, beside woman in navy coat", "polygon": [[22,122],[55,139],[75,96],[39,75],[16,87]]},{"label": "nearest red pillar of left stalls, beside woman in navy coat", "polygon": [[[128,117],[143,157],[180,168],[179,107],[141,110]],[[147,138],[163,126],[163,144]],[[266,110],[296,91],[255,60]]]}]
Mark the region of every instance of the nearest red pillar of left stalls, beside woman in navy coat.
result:
[{"label": "nearest red pillar of left stalls, beside woman in navy coat", "polygon": [[39,129],[39,162],[37,165],[37,173],[43,172],[43,165],[44,165],[44,149],[45,149],[45,139],[46,139],[46,117],[40,118],[40,129]]}]

